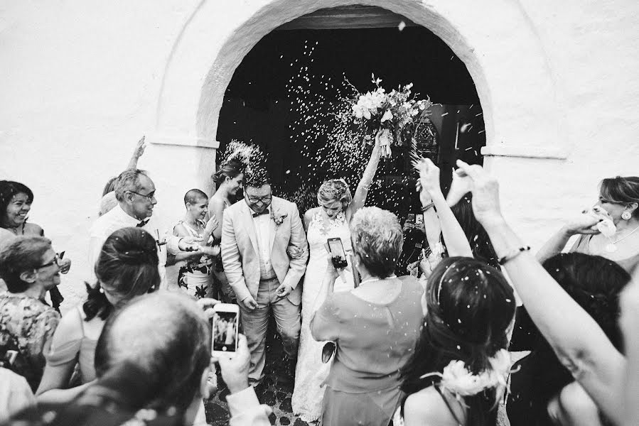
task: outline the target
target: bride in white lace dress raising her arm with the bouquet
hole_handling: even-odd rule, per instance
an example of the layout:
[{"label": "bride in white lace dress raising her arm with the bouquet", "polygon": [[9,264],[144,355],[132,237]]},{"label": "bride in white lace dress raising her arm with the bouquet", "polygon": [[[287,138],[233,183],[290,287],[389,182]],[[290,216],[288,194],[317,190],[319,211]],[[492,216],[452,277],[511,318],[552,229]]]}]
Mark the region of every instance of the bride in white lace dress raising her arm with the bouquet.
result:
[{"label": "bride in white lace dress raising her arm with the bouquet", "polygon": [[[304,228],[306,229],[310,256],[302,291],[299,354],[291,403],[294,415],[298,415],[305,422],[315,422],[322,415],[323,381],[328,375],[330,366],[330,364],[323,364],[321,360],[325,342],[316,342],[311,337],[311,330],[308,327],[311,317],[313,317],[313,310],[323,302],[323,300],[316,299],[326,271],[326,256],[328,256],[325,248],[326,241],[329,238],[339,237],[342,240],[344,250],[347,252],[351,250],[348,224],[353,214],[364,207],[368,187],[375,176],[377,164],[380,162],[380,152],[378,133],[375,136],[375,146],[372,149],[362,180],[355,190],[355,197],[351,197],[348,185],[343,179],[331,179],[324,182],[318,190],[318,207],[313,207],[304,214]],[[345,282],[338,279],[335,282],[335,291],[352,290],[353,276],[350,272],[342,275]]]}]

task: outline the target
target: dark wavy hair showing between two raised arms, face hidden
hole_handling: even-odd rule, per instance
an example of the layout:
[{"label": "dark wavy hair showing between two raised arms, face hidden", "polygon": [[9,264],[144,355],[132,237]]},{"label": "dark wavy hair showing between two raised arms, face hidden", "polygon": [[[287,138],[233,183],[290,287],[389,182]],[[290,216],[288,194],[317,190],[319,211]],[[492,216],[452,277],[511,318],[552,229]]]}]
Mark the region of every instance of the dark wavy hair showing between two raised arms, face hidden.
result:
[{"label": "dark wavy hair showing between two raised arms, face hidden", "polygon": [[457,222],[461,225],[463,233],[466,234],[468,243],[471,244],[473,257],[488,263],[493,268],[499,268],[497,253],[490,243],[488,234],[473,213],[473,194],[468,192],[451,210],[455,215]]}]

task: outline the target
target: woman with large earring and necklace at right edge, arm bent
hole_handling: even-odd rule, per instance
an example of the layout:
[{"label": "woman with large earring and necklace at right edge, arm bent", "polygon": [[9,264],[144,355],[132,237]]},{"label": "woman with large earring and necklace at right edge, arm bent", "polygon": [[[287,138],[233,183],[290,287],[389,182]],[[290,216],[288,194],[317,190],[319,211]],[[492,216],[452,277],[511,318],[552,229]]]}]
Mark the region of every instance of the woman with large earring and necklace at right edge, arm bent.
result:
[{"label": "woman with large earring and necklace at right edge, arm bent", "polygon": [[[564,225],[539,250],[537,259],[546,261],[562,251],[571,236],[579,235],[570,251],[602,256],[631,273],[639,263],[639,177],[602,180],[596,207],[601,217],[584,214]],[[601,219],[611,219],[616,227],[613,235],[606,236],[594,227]]]}]

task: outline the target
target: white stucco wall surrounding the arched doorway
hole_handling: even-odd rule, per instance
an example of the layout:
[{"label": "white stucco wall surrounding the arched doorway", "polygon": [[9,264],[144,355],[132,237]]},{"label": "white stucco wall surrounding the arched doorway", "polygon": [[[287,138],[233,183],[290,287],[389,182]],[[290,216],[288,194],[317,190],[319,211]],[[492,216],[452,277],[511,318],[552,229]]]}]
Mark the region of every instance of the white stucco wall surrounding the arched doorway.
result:
[{"label": "white stucco wall surrounding the arched doorway", "polygon": [[[609,175],[637,175],[639,3],[633,0],[370,0],[427,26],[466,62],[508,218],[539,246]],[[31,221],[88,271],[104,182],[141,134],[215,146],[220,90],[262,35],[338,0],[5,1],[0,4],[0,178],[36,194]],[[525,158],[562,156],[565,160]],[[140,167],[157,213],[207,187],[215,150],[151,143]],[[517,155],[503,156],[503,155]],[[523,157],[522,157],[523,156]]]}]

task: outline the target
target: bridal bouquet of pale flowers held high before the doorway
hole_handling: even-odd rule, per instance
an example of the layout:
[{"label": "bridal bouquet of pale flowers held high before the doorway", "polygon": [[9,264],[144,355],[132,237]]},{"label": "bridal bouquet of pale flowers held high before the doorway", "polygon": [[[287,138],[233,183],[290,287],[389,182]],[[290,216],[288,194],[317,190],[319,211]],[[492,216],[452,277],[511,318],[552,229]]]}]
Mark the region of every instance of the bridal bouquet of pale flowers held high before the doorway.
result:
[{"label": "bridal bouquet of pale flowers held high before the doorway", "polygon": [[[391,146],[407,146],[414,144],[413,135],[422,118],[430,115],[432,102],[426,99],[415,99],[411,89],[413,84],[392,89],[390,93],[380,86],[382,80],[372,75],[372,82],[377,89],[362,94],[353,87],[353,98],[349,99],[348,114],[355,123],[365,127],[373,134],[380,133],[382,157],[392,155]],[[347,113],[345,113],[347,114]],[[344,118],[344,117],[343,117]]]}]

